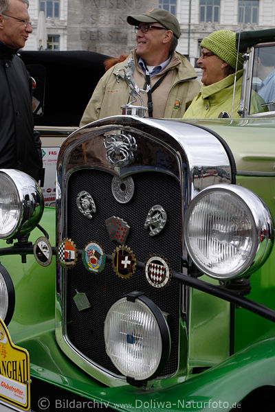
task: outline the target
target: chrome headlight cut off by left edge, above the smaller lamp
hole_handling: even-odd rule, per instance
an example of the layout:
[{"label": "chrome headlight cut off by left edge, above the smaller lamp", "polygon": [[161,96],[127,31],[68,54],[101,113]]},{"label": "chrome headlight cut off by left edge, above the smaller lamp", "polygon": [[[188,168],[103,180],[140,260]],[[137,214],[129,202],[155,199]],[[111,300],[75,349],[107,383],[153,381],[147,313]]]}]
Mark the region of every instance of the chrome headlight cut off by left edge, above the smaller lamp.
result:
[{"label": "chrome headlight cut off by left edge, above the smaller lamp", "polygon": [[0,169],[0,238],[28,236],[43,214],[39,185],[19,170]]}]

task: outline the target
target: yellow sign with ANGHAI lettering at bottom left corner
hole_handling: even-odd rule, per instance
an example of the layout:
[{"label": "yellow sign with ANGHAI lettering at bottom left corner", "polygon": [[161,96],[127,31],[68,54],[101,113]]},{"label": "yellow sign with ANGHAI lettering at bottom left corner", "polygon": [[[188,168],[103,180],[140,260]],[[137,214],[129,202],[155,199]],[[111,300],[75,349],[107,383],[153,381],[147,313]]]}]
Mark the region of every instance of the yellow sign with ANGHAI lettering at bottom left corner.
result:
[{"label": "yellow sign with ANGHAI lettering at bottom left corner", "polygon": [[[4,401],[4,402],[3,402]],[[30,358],[28,351],[15,346],[0,318],[0,402],[19,410],[30,409]]]}]

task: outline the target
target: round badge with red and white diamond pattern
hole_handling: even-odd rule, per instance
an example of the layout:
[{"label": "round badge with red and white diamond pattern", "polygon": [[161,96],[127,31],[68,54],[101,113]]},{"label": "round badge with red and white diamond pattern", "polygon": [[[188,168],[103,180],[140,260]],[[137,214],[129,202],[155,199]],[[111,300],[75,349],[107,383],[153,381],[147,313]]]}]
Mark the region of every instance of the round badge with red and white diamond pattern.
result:
[{"label": "round badge with red and white diamond pattern", "polygon": [[154,288],[163,288],[170,282],[171,271],[165,258],[151,256],[145,262],[146,279]]}]

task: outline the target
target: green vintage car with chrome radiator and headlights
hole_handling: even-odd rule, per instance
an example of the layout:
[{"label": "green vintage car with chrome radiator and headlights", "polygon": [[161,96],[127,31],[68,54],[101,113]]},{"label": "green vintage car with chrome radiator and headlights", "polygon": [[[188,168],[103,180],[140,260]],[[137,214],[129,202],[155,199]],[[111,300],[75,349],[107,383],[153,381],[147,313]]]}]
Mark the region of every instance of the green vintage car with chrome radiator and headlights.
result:
[{"label": "green vintage car with chrome radiator and headlights", "polygon": [[30,176],[0,171],[6,410],[274,406],[275,92],[263,113],[250,96],[275,30],[237,42],[241,118],[79,128],[59,152],[56,209]]}]

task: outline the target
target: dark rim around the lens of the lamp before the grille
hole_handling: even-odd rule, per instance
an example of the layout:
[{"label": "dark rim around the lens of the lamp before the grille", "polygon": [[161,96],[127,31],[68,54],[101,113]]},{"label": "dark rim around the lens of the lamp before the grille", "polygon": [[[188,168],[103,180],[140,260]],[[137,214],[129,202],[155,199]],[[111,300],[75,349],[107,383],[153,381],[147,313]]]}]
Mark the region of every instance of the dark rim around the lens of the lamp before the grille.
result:
[{"label": "dark rim around the lens of the lamp before the grille", "polygon": [[[152,317],[154,317],[158,328],[159,328],[159,334],[161,336],[161,341],[162,341],[162,350],[161,354],[159,357],[159,362],[157,363],[157,366],[154,368],[153,371],[148,371],[147,376],[131,376],[131,372],[129,374],[125,374],[120,367],[118,367],[117,363],[113,363],[113,359],[111,358],[111,354],[108,350],[108,343],[107,343],[107,338],[106,338],[106,327],[107,327],[107,318],[109,313],[111,312],[112,308],[115,307],[116,305],[120,303],[124,303],[126,301],[129,301],[131,303],[135,303],[137,301],[138,304],[142,304],[144,307],[148,309],[149,312],[151,312]],[[168,328],[168,323],[166,322],[166,319],[164,317],[164,314],[162,310],[146,295],[144,295],[143,292],[138,292],[134,291],[132,293],[129,293],[128,295],[122,297],[121,299],[118,299],[118,301],[115,301],[115,303],[109,308],[109,311],[107,313],[107,316],[105,318],[104,322],[104,340],[105,340],[105,346],[106,346],[106,352],[108,356],[110,357],[113,365],[120,371],[122,376],[126,377],[126,381],[130,385],[135,385],[135,386],[140,386],[143,384],[143,382],[146,382],[148,380],[151,380],[159,375],[159,372],[162,371],[164,368],[164,365],[166,365],[168,358],[170,356],[170,330]],[[132,374],[133,375],[133,374]]]}]

